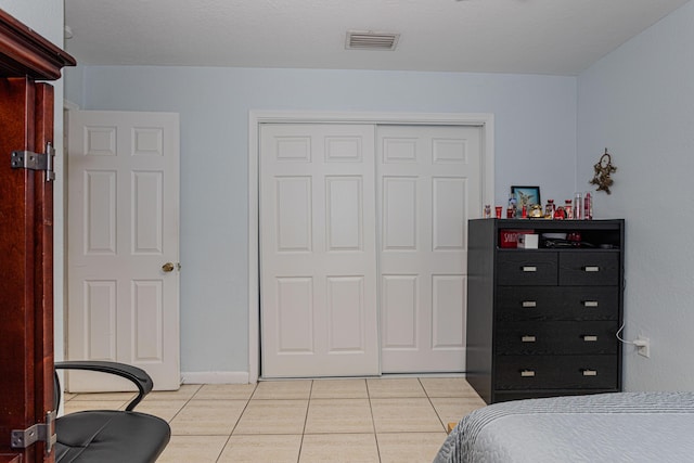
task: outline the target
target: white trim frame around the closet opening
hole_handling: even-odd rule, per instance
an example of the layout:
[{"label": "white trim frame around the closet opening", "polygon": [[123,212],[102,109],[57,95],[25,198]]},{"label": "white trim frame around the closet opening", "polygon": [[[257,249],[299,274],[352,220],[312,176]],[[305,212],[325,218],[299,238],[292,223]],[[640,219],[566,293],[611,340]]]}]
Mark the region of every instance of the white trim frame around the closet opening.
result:
[{"label": "white trim frame around the closet opening", "polygon": [[494,202],[494,116],[491,113],[248,112],[248,382],[260,373],[259,155],[261,124],[375,124],[481,127],[481,205]]}]

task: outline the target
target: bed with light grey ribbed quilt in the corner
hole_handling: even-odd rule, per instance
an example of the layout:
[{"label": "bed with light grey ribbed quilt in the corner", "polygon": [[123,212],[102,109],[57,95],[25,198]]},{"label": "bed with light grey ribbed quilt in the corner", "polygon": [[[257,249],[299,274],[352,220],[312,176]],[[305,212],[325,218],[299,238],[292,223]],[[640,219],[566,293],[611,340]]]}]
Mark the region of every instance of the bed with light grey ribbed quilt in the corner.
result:
[{"label": "bed with light grey ribbed quilt in the corner", "polygon": [[691,462],[694,393],[494,403],[463,417],[435,463]]}]

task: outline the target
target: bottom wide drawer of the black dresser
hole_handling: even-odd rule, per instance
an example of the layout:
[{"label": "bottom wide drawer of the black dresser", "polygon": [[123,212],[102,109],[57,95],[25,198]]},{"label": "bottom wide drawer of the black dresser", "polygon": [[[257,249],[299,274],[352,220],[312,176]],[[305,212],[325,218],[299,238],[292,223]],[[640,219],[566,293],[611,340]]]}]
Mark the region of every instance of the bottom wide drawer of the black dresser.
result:
[{"label": "bottom wide drawer of the black dresser", "polygon": [[617,356],[506,356],[494,359],[497,390],[617,388]]}]

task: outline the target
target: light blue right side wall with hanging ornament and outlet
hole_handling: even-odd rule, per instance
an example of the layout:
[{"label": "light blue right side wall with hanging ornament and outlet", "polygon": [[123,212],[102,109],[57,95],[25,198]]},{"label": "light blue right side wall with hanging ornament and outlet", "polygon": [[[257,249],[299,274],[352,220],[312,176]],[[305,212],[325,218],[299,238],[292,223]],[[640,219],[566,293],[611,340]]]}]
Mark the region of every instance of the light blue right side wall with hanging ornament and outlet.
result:
[{"label": "light blue right side wall with hanging ornament and outlet", "polygon": [[578,181],[607,146],[618,170],[600,215],[627,218],[625,353],[629,390],[694,390],[694,2],[578,78]]}]

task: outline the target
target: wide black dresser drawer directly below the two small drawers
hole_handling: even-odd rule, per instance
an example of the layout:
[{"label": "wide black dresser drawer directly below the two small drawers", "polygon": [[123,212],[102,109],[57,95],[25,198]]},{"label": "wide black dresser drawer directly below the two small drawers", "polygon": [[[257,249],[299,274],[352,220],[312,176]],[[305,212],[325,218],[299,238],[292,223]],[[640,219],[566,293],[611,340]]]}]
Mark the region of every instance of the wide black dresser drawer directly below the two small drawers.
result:
[{"label": "wide black dresser drawer directly below the two small drawers", "polygon": [[497,321],[618,320],[617,286],[499,286]]}]

